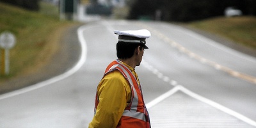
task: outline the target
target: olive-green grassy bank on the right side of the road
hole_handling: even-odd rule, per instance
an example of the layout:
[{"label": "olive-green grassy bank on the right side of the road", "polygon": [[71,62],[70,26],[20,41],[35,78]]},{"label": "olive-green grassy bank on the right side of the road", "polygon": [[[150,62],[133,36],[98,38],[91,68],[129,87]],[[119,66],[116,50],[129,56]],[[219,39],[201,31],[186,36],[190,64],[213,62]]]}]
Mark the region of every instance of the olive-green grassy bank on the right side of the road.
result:
[{"label": "olive-green grassy bank on the right side of the road", "polygon": [[256,17],[218,17],[191,22],[188,26],[223,36],[256,50]]}]

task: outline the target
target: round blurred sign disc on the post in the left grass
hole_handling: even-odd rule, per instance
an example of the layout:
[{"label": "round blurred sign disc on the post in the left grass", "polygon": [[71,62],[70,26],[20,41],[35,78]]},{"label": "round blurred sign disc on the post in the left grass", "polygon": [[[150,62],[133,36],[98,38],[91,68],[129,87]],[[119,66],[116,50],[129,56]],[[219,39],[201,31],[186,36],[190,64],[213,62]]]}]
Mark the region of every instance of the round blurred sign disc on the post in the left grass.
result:
[{"label": "round blurred sign disc on the post in the left grass", "polygon": [[4,31],[0,35],[0,47],[3,49],[11,49],[16,43],[15,36],[8,32]]}]

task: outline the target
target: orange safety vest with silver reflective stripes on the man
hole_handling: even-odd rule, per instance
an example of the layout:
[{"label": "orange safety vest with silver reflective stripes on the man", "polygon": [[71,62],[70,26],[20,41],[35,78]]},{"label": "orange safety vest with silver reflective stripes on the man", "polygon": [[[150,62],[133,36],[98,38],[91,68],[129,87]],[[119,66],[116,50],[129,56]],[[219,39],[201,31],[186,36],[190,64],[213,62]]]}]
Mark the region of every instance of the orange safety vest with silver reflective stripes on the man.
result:
[{"label": "orange safety vest with silver reflective stripes on the man", "polygon": [[[131,70],[128,67],[120,63],[120,61],[118,60],[115,60],[108,65],[108,67],[105,70],[104,76],[109,72],[112,72],[113,70],[119,70],[123,74],[127,81],[129,81],[132,92],[131,102],[124,109],[124,113],[116,127],[149,128],[150,120],[148,111],[143,100],[141,87],[136,81],[136,77],[132,74]],[[99,98],[96,94],[95,112],[98,104]]]}]

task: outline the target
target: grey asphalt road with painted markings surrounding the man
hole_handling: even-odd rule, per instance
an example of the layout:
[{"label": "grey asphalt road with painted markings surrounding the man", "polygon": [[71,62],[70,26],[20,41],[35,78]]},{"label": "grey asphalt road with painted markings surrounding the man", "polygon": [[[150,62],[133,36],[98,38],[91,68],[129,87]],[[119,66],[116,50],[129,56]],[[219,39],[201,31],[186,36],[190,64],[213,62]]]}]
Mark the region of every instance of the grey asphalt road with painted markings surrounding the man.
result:
[{"label": "grey asphalt road with painted markings surrounding the man", "polygon": [[136,67],[152,127],[256,127],[256,58],[179,26],[125,20],[82,26],[75,67],[0,95],[0,127],[88,127],[97,84],[116,59],[114,29],[152,33]]}]

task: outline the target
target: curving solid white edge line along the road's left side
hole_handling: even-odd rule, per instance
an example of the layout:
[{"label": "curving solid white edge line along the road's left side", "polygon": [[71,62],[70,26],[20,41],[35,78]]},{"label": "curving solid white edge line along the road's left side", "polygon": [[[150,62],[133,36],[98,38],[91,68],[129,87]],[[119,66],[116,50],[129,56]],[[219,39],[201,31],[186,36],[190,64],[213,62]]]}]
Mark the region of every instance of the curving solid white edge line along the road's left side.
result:
[{"label": "curving solid white edge line along the road's left side", "polygon": [[77,70],[79,70],[79,68],[81,68],[82,65],[84,64],[84,62],[86,61],[86,56],[87,56],[86,40],[83,37],[83,30],[85,27],[86,27],[86,25],[81,26],[77,29],[77,36],[79,39],[79,44],[81,45],[81,55],[80,55],[79,61],[77,61],[76,65],[74,67],[70,68],[70,70],[67,70],[67,72],[64,72],[63,74],[60,74],[59,76],[52,77],[51,79],[48,79],[46,81],[42,81],[40,83],[33,84],[31,86],[22,88],[20,90],[15,90],[13,92],[4,93],[4,94],[0,95],[0,100],[14,97],[14,96],[20,95],[22,93],[30,92],[30,91],[36,90],[38,88],[42,88],[49,84],[60,81],[61,79],[65,79],[66,77],[71,76],[72,74],[77,72]]}]

